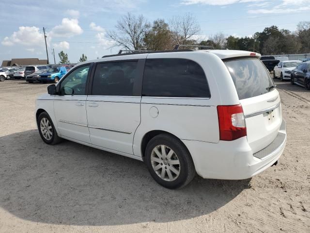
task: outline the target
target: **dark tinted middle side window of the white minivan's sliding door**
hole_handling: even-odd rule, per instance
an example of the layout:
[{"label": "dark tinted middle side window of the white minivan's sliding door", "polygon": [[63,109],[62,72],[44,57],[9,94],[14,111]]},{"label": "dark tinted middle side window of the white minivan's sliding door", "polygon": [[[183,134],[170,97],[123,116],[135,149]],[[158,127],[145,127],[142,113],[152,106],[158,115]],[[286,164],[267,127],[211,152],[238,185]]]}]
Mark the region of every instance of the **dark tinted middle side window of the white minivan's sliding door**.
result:
[{"label": "dark tinted middle side window of the white minivan's sliding door", "polygon": [[138,61],[98,63],[93,76],[92,94],[133,96]]}]

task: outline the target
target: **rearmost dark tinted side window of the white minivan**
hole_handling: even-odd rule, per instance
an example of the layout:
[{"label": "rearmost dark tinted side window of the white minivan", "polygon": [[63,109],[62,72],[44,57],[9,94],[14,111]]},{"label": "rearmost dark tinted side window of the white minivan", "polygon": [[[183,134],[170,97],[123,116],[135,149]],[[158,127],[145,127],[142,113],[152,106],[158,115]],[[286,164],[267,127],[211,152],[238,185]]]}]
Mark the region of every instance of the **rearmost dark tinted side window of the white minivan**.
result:
[{"label": "rearmost dark tinted side window of the white minivan", "polygon": [[206,76],[196,62],[179,58],[147,59],[143,96],[210,98]]}]

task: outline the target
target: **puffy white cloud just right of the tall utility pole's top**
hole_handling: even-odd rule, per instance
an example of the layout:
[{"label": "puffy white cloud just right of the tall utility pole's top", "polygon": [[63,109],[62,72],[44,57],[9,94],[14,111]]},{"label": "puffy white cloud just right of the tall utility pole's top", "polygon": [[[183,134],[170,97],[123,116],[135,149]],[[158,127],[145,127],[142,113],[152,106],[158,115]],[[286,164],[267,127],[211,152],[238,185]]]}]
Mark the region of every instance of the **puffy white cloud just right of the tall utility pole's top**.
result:
[{"label": "puffy white cloud just right of the tall utility pole's top", "polygon": [[62,24],[55,26],[49,33],[50,36],[74,36],[83,33],[82,28],[78,25],[76,18],[63,18]]}]

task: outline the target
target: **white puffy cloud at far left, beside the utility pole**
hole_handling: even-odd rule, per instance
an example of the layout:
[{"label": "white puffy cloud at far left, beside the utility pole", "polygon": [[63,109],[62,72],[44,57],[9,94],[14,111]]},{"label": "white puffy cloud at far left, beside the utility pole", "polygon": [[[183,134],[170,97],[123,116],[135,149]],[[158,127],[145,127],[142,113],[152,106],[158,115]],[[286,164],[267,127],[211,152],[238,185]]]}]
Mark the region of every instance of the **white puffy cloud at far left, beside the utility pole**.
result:
[{"label": "white puffy cloud at far left, beside the utility pole", "polygon": [[44,45],[44,35],[37,27],[19,27],[17,32],[10,36],[4,37],[1,42],[4,46],[21,44],[24,46]]}]

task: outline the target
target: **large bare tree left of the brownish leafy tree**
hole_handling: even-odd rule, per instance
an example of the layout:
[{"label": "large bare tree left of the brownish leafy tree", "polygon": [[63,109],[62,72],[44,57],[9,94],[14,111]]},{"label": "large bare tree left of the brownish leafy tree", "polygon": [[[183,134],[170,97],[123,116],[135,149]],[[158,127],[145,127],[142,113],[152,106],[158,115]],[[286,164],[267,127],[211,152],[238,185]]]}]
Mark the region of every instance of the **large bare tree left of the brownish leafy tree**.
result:
[{"label": "large bare tree left of the brownish leafy tree", "polygon": [[113,46],[122,46],[128,50],[143,49],[143,38],[150,30],[150,24],[145,17],[136,17],[130,13],[121,17],[116,24],[116,31],[110,31],[106,37],[113,40]]}]

